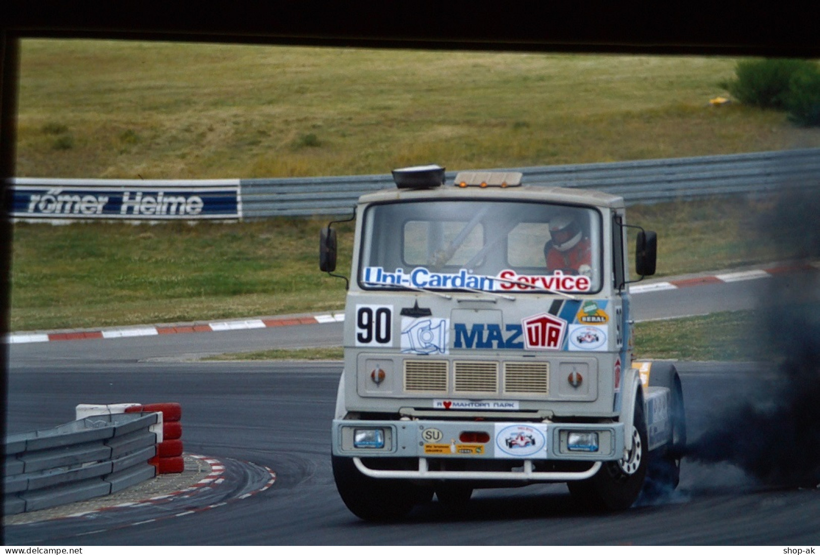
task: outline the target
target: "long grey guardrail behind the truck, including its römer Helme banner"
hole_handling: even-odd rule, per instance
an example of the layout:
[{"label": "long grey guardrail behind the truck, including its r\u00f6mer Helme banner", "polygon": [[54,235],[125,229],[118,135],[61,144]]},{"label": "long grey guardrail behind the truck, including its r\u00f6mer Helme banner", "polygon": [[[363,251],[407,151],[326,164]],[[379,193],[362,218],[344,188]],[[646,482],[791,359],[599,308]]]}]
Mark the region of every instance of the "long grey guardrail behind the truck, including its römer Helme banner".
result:
[{"label": "long grey guardrail behind the truck, including its r\u00f6mer Helme banner", "polygon": [[[707,196],[763,194],[786,186],[818,186],[820,149],[501,169],[522,172],[525,184],[592,188],[623,196],[627,204],[634,205]],[[455,174],[455,171],[445,174],[449,183],[453,182]],[[105,183],[97,183],[101,181]],[[229,182],[233,183],[231,180],[220,183],[226,187]],[[213,210],[208,212],[202,197],[198,201],[185,201],[185,198],[196,196],[196,187],[209,183],[204,181],[189,182],[185,186],[188,189],[181,186],[163,189],[171,187],[171,183],[178,185],[178,182],[16,178],[12,181],[11,216],[16,219],[89,219],[89,213],[96,210],[100,214],[91,214],[92,217],[153,220],[348,215],[363,193],[394,187],[390,174],[238,179],[235,182],[235,194],[221,192],[223,196],[214,199],[209,205]],[[125,198],[128,187],[138,185],[153,188],[132,189],[133,192]],[[210,186],[215,185],[210,183]],[[68,187],[78,188],[74,191]],[[95,192],[94,187],[108,188]],[[115,195],[117,191],[120,196]],[[136,194],[140,191],[144,194],[138,202]],[[185,196],[185,191],[189,196]],[[108,197],[105,203],[102,197]],[[202,210],[191,214],[200,206]]]}]

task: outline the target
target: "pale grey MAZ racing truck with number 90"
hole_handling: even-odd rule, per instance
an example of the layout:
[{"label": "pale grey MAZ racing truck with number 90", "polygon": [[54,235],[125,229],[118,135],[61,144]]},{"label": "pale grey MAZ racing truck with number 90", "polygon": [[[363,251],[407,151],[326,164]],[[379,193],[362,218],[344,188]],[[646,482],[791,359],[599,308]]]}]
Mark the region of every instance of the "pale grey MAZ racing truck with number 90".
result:
[{"label": "pale grey MAZ racing truck with number 90", "polygon": [[673,490],[681,380],[632,355],[627,229],[635,281],[657,234],[626,224],[622,197],[518,172],[393,177],[358,200],[349,279],[333,224],[350,220],[320,232],[321,271],[348,280],[331,455],[348,509],[395,520],[434,495],[464,508],[476,489],[564,482],[617,511]]}]

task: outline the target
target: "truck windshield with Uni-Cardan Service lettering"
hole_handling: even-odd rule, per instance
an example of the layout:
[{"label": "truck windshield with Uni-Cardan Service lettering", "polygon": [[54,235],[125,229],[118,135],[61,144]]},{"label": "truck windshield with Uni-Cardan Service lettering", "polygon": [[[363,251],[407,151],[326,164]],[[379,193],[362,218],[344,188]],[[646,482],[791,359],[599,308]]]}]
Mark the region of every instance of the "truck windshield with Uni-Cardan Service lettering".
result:
[{"label": "truck windshield with Uni-Cardan Service lettering", "polygon": [[595,293],[601,216],[517,201],[421,201],[365,210],[358,282],[365,289]]}]

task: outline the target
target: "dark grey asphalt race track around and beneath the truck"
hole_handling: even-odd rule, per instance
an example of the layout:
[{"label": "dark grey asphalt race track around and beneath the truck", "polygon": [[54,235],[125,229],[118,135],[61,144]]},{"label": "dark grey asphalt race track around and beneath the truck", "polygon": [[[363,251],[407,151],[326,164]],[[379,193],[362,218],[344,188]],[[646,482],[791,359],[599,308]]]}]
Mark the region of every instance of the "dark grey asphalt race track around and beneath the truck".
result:
[{"label": "dark grey asphalt race track around and beneath the truck", "polygon": [[[636,320],[754,308],[787,274],[635,295]],[[339,363],[204,363],[202,354],[338,345],[341,323],[11,345],[8,431],[71,420],[79,403],[179,402],[185,451],[225,468],[219,484],[163,503],[6,526],[9,545],[483,545],[820,543],[820,490],[762,485],[727,463],[685,459],[676,492],[626,512],[590,514],[564,485],[476,492],[465,512],[439,503],[376,525],[344,508],[330,472]],[[690,439],[727,405],[765,402],[780,379],[750,363],[679,363]],[[276,482],[269,484],[270,474]]]}]

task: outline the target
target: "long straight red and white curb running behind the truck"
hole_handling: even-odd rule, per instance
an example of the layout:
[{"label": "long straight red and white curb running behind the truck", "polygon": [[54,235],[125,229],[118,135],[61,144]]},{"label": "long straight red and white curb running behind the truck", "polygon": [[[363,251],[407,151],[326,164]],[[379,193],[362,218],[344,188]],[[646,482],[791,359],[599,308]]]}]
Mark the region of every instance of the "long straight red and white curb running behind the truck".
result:
[{"label": "long straight red and white curb running behind the truck", "polygon": [[[716,275],[696,278],[681,278],[668,282],[651,282],[630,287],[633,295],[652,291],[667,291],[683,287],[708,285],[709,283],[743,282],[752,279],[771,278],[781,273],[804,272],[820,269],[820,263],[793,264],[764,269],[744,270],[740,272],[718,273]],[[113,339],[117,337],[160,336],[173,333],[226,332],[234,330],[251,330],[263,327],[302,326],[316,323],[344,322],[344,313],[318,314],[295,318],[257,318],[253,320],[227,320],[204,324],[185,324],[171,326],[143,326],[108,329],[98,332],[16,332],[6,336],[7,343],[40,343],[43,341],[66,341],[75,339]]]}]

